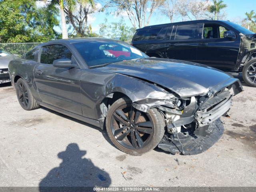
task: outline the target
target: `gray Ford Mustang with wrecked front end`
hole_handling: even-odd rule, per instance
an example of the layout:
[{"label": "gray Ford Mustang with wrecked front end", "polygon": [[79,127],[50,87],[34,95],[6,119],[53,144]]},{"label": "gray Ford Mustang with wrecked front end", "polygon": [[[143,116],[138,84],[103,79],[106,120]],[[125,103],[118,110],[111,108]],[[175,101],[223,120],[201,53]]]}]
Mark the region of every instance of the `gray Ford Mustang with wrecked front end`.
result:
[{"label": "gray Ford Mustang with wrecked front end", "polygon": [[9,64],[25,110],[44,106],[106,128],[132,155],[156,146],[199,154],[223,134],[220,116],[242,91],[238,79],[209,66],[150,58],[104,38],[56,40]]}]

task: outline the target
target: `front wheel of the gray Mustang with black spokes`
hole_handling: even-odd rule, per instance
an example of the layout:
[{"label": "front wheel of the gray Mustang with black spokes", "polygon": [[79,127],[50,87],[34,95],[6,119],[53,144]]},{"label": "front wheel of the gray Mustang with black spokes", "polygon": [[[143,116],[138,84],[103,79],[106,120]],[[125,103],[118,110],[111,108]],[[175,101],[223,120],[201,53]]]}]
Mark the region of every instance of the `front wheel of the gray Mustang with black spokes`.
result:
[{"label": "front wheel of the gray Mustang with black spokes", "polygon": [[148,113],[136,110],[127,97],[114,102],[106,116],[106,130],[114,146],[135,156],[154,149],[164,136],[164,127],[164,118],[158,110],[150,109]]}]

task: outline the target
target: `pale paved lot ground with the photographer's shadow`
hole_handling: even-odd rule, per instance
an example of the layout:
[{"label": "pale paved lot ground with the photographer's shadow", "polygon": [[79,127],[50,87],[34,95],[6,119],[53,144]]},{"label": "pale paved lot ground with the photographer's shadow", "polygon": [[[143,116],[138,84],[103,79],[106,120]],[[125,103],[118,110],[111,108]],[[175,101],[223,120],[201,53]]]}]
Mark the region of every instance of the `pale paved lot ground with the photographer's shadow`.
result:
[{"label": "pale paved lot ground with the photographer's shadow", "polygon": [[105,131],[46,108],[23,110],[0,86],[0,186],[256,186],[256,88],[234,97],[225,134],[208,151],[142,156]]}]

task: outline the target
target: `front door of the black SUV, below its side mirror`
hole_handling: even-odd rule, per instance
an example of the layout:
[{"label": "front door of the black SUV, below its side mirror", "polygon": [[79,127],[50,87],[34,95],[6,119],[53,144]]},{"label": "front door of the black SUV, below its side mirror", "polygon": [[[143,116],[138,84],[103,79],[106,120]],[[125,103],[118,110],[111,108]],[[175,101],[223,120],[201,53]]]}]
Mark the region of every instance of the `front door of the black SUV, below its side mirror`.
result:
[{"label": "front door of the black SUV, below its side mirror", "polygon": [[236,65],[240,38],[224,38],[224,31],[231,30],[228,26],[218,23],[201,23],[200,39],[198,39],[197,62],[224,71],[234,70]]}]

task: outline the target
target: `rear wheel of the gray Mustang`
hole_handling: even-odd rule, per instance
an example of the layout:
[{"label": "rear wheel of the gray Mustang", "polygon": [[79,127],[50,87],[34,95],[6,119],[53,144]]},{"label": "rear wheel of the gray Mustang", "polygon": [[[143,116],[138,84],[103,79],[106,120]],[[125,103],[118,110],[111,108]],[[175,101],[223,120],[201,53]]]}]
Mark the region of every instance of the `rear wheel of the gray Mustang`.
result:
[{"label": "rear wheel of the gray Mustang", "polygon": [[24,81],[22,78],[19,78],[15,84],[15,88],[18,101],[23,109],[33,110],[40,107],[32,95],[26,81]]}]

